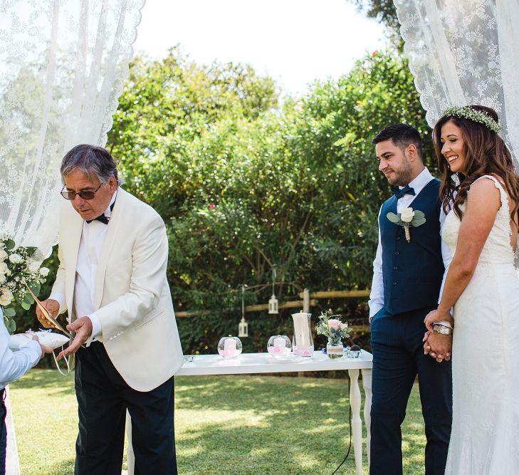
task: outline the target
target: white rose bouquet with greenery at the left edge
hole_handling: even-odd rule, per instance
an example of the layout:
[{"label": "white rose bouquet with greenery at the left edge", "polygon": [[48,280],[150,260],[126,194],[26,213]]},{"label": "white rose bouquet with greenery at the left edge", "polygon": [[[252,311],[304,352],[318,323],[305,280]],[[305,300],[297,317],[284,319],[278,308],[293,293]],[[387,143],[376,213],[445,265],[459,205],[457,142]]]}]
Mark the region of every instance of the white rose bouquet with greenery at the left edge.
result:
[{"label": "white rose bouquet with greenery at the left edge", "polygon": [[0,234],[0,307],[11,335],[16,330],[16,310],[11,304],[17,302],[25,310],[31,308],[34,298],[28,288],[38,296],[48,276],[48,268],[33,259],[35,253],[36,247],[16,246],[11,236]]}]

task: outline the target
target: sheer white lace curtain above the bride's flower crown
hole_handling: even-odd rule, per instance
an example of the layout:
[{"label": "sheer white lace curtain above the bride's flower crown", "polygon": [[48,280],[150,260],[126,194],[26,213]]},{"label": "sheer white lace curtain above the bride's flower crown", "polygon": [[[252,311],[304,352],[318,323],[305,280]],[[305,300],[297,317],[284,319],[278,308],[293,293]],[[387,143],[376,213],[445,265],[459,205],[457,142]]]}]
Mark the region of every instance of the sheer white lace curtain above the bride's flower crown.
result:
[{"label": "sheer white lace curtain above the bride's flower crown", "polygon": [[394,0],[431,127],[449,105],[494,108],[519,157],[519,1]]}]

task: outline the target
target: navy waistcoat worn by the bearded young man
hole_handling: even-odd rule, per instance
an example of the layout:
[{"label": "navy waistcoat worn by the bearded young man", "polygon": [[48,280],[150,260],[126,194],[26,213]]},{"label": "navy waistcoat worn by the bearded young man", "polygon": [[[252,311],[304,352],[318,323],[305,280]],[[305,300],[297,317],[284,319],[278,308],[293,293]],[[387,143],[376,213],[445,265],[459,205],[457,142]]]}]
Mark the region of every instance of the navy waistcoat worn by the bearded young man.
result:
[{"label": "navy waistcoat worn by the bearded young man", "polygon": [[402,226],[387,219],[387,213],[397,213],[397,198],[391,197],[382,204],[379,226],[384,307],[393,315],[418,308],[434,308],[438,303],[444,276],[439,187],[439,179],[432,179],[409,204],[414,211],[423,212],[426,219],[421,226],[410,226],[411,242],[407,242]]}]

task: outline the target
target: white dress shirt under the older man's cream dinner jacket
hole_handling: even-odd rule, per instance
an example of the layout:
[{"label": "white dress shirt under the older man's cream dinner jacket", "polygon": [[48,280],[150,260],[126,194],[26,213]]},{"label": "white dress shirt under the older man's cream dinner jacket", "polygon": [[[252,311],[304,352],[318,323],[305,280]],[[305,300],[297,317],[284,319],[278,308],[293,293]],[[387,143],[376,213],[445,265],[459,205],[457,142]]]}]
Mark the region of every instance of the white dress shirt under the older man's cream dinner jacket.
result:
[{"label": "white dress shirt under the older man's cream dinner jacket", "polygon": [[[105,216],[110,219],[112,210],[110,207],[115,202],[117,192],[112,196],[110,204],[105,209]],[[108,225],[94,219],[87,223],[83,223],[83,232],[81,233],[81,241],[78,250],[78,262],[75,266],[75,284],[74,284],[74,311],[76,318],[87,316],[92,321],[92,335],[87,340],[90,345],[100,338],[102,333],[101,323],[98,315],[95,314],[94,308],[94,290],[95,290],[95,274],[98,271],[99,256],[103,249],[106,231]],[[61,293],[52,293],[49,298],[60,303],[60,308],[65,306],[65,296]]]}]

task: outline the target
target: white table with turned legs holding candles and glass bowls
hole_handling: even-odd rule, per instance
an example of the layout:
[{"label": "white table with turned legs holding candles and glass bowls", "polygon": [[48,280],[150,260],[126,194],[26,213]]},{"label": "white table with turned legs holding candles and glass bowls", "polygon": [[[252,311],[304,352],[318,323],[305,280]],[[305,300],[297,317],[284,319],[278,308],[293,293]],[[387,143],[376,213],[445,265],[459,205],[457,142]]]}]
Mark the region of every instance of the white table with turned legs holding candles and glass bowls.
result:
[{"label": "white table with turned legs holding candles and glass bowls", "polygon": [[236,358],[224,359],[220,355],[195,355],[192,362],[184,365],[175,374],[177,376],[199,375],[243,375],[261,372],[292,372],[292,371],[332,371],[347,370],[350,374],[350,404],[352,406],[352,440],[355,453],[357,474],[362,475],[362,420],[360,419],[360,387],[359,371],[362,371],[362,385],[365,390],[364,420],[367,430],[367,459],[369,463],[369,427],[371,417],[371,377],[373,356],[362,350],[358,358],[337,358],[331,360],[320,351],[315,351],[313,357],[305,357],[299,362],[272,362],[268,353],[242,353]]}]

